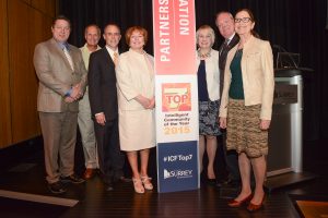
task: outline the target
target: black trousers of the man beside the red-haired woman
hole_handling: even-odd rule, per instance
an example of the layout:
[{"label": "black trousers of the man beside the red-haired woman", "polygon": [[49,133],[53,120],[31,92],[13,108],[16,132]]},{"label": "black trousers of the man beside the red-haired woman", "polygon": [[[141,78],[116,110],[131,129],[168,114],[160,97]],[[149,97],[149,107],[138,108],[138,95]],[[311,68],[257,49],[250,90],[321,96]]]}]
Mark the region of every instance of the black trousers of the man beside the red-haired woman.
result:
[{"label": "black trousers of the man beside the red-haired woman", "polygon": [[94,124],[97,141],[99,170],[105,183],[124,175],[125,158],[119,147],[118,120],[107,121],[105,125]]}]

